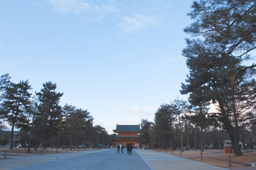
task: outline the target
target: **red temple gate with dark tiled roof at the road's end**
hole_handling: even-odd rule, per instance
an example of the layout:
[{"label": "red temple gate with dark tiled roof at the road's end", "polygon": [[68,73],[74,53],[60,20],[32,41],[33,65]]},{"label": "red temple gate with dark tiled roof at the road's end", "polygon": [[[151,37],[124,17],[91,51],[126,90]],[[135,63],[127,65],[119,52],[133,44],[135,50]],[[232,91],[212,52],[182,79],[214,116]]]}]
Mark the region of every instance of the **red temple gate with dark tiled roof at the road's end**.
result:
[{"label": "red temple gate with dark tiled roof at the road's end", "polygon": [[134,147],[140,147],[139,144],[139,125],[118,125],[113,132],[117,133],[115,137],[112,138],[115,142],[115,146],[132,144]]}]

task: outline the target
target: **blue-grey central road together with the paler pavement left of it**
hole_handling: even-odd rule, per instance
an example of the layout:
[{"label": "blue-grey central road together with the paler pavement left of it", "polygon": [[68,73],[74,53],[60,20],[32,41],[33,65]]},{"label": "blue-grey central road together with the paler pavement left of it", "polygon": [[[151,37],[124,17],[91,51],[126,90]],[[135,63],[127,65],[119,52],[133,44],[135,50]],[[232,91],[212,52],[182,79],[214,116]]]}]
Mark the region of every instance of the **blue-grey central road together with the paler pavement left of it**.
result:
[{"label": "blue-grey central road together with the paler pavement left of it", "polygon": [[[41,163],[40,163],[41,162]],[[68,152],[36,157],[5,159],[0,161],[0,169],[16,170],[70,170],[70,169],[111,169],[150,170],[136,152],[132,155],[117,154],[116,149],[102,149],[85,152]]]}]

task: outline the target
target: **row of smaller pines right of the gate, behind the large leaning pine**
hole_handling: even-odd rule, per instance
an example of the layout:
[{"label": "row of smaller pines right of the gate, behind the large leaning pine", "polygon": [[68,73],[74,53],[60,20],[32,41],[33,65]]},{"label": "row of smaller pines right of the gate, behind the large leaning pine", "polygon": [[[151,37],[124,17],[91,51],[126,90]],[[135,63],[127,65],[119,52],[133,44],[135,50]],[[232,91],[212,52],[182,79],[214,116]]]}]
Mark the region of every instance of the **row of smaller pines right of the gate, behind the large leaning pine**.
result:
[{"label": "row of smaller pines right of the gate, behind the large leaning pine", "polygon": [[[239,149],[250,149],[255,142],[256,114],[247,111],[238,123]],[[234,120],[230,123],[235,125]],[[161,149],[221,149],[230,135],[209,106],[192,106],[188,101],[176,99],[162,104],[156,111],[154,122],[142,119],[139,141],[150,148]]]}]

